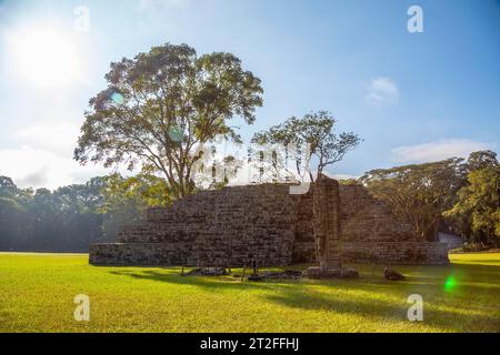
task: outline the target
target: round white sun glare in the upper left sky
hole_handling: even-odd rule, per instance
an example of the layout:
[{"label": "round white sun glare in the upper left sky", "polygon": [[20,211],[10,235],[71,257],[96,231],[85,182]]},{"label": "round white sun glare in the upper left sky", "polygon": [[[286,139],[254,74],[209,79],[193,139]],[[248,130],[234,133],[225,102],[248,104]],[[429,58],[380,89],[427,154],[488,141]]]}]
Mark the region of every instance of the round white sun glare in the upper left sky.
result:
[{"label": "round white sun glare in the upper left sky", "polygon": [[80,77],[77,51],[59,32],[27,32],[17,36],[13,45],[20,72],[36,85],[60,87]]}]

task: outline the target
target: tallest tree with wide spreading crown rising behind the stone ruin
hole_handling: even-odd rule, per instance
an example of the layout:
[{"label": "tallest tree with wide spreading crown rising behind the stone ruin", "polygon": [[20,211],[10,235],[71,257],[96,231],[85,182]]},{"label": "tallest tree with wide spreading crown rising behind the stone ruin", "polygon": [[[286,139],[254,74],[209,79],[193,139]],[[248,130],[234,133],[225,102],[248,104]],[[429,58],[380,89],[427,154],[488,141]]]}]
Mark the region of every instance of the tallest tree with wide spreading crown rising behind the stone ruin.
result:
[{"label": "tallest tree with wide spreading crown rising behind the stone ruin", "polygon": [[90,100],[74,159],[160,172],[174,197],[196,191],[204,144],[241,142],[229,121],[239,116],[250,124],[262,105],[261,82],[240,59],[198,57],[187,44],[167,43],[111,63],[106,80],[108,88]]}]

